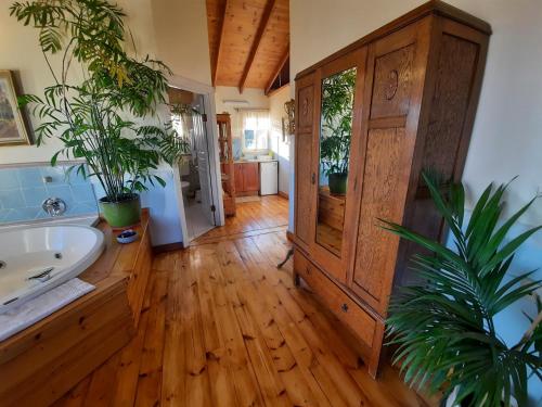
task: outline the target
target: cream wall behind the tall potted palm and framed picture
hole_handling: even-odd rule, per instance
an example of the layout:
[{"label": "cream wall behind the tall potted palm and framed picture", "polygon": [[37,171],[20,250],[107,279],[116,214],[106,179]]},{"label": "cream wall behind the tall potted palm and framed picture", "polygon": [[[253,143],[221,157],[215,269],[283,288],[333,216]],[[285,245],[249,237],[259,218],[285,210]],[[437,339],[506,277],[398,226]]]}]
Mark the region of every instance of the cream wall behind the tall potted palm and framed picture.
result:
[{"label": "cream wall behind the tall potted palm and framed picture", "polygon": [[[18,72],[24,92],[42,94],[52,78],[38,47],[38,33],[10,16],[11,3],[2,1],[0,4],[0,68]],[[117,0],[117,3],[128,15],[126,23],[141,58],[149,54],[163,59],[173,74],[210,85],[204,1]],[[31,122],[33,127],[39,124],[34,118]],[[49,162],[61,145],[57,139],[51,138],[40,148],[0,147],[0,164]],[[172,174],[171,168],[162,167],[160,176],[168,181],[166,188],[142,194],[143,204],[151,207],[155,245],[182,241],[179,213],[173,204]]]}]

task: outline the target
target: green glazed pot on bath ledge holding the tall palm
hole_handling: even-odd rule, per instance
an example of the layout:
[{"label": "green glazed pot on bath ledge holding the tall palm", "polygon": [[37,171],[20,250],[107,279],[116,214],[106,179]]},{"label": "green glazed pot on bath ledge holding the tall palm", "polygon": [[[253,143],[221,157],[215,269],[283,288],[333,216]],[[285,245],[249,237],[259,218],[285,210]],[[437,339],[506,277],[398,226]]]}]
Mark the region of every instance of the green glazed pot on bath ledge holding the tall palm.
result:
[{"label": "green glazed pot on bath ledge holding the tall palm", "polygon": [[99,204],[103,217],[112,228],[126,228],[141,220],[141,198],[137,193],[128,193],[117,202],[109,202],[104,196]]}]

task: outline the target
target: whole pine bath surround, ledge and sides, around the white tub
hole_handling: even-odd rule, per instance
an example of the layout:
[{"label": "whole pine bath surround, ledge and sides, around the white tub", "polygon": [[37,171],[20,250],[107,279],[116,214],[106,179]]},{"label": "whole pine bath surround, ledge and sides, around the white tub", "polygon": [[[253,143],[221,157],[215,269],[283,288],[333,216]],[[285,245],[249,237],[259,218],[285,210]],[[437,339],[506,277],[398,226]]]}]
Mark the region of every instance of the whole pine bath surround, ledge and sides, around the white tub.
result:
[{"label": "whole pine bath surround, ledge and sides, around the white tub", "polygon": [[117,243],[104,221],[98,228],[105,250],[79,276],[95,290],[0,342],[0,405],[50,405],[134,335],[153,259],[149,211],[134,243]]}]

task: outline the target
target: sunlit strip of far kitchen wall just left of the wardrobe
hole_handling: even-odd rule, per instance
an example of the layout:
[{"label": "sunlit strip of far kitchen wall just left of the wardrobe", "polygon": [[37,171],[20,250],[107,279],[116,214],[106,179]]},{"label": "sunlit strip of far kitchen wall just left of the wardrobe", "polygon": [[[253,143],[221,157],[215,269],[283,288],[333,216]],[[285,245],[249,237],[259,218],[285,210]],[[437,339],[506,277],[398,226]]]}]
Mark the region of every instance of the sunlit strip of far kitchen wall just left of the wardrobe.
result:
[{"label": "sunlit strip of far kitchen wall just left of the wardrobe", "polygon": [[284,103],[289,100],[289,85],[269,97],[269,116],[271,118],[270,148],[279,160],[279,191],[289,193],[289,140],[283,141],[282,118],[286,117]]}]

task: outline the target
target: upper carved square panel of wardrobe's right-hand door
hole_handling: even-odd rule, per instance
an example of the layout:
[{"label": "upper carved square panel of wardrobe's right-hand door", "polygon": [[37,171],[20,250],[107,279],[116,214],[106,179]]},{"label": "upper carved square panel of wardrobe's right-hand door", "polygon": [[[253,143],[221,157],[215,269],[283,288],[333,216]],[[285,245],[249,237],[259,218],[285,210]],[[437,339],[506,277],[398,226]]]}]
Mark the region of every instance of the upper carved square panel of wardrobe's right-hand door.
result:
[{"label": "upper carved square panel of wardrobe's right-hand door", "polygon": [[409,113],[414,51],[410,44],[376,59],[371,118]]}]

